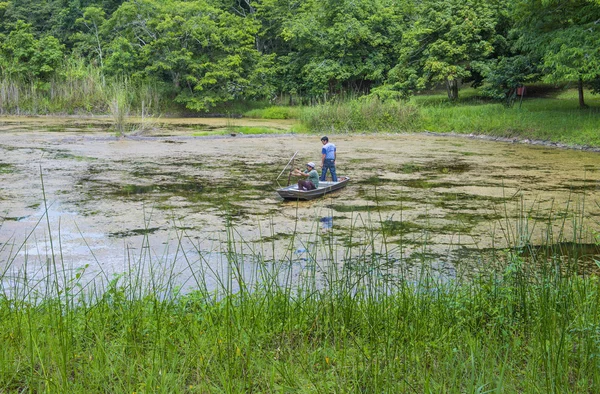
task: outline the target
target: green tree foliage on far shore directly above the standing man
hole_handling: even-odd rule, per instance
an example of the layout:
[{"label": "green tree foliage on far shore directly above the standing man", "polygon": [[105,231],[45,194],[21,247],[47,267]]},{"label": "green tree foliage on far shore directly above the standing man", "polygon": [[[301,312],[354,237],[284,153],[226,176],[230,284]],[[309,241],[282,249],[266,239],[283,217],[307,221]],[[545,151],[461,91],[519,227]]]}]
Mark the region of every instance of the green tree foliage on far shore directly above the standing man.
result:
[{"label": "green tree foliage on far shore directly above the standing man", "polygon": [[308,0],[301,4],[281,32],[291,46],[281,57],[288,92],[362,93],[383,80],[404,26],[396,2]]}]

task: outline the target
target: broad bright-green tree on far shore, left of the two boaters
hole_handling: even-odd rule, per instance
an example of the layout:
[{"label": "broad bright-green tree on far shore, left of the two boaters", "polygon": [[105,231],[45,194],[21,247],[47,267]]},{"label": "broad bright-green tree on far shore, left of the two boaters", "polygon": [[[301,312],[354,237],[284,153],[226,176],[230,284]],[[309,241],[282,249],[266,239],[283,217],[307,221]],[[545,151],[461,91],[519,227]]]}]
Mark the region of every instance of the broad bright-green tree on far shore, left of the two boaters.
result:
[{"label": "broad bright-green tree on far shore, left of the two boaters", "polygon": [[133,62],[139,77],[170,84],[188,109],[270,92],[269,59],[254,49],[257,24],[206,1],[126,2],[106,28],[120,35],[110,45],[109,70]]}]

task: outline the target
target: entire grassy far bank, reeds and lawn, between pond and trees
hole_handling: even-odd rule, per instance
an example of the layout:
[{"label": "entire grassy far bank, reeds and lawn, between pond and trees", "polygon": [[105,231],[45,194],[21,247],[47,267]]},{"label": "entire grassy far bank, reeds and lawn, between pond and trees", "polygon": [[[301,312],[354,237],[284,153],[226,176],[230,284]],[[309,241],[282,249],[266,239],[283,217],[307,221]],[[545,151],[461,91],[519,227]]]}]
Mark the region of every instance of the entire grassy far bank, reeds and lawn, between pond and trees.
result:
[{"label": "entire grassy far bank, reeds and lawn, between pond and trees", "polygon": [[[269,107],[249,116],[297,118],[297,130],[327,133],[423,132],[483,134],[496,137],[600,146],[600,97],[586,93],[580,109],[577,91],[539,87],[512,108],[463,89],[451,103],[445,93],[423,94],[408,102],[354,100],[314,107]],[[531,89],[536,92],[535,89]]]}]

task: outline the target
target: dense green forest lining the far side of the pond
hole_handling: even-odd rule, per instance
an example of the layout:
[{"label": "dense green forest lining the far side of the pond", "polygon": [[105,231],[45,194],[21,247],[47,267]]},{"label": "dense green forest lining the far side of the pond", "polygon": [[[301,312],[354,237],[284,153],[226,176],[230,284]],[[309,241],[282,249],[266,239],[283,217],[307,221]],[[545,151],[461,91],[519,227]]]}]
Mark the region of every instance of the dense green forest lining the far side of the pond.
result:
[{"label": "dense green forest lining the far side of the pond", "polygon": [[433,87],[455,100],[464,84],[510,105],[534,81],[571,83],[585,106],[599,42],[600,0],[10,0],[0,108],[24,94],[93,97],[116,80],[194,112]]}]

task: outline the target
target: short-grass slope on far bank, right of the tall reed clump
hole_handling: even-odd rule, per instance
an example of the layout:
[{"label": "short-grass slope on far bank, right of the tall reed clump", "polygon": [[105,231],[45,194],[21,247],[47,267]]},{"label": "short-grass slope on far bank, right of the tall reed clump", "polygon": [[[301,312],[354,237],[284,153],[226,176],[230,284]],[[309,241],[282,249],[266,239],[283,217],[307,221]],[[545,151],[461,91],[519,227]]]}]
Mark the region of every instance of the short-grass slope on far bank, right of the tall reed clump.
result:
[{"label": "short-grass slope on far bank, right of the tall reed clump", "polygon": [[580,109],[576,94],[566,90],[525,97],[513,108],[481,101],[472,89],[462,92],[457,104],[442,95],[418,96],[412,102],[420,108],[424,130],[600,146],[600,98],[588,93],[589,108]]}]

